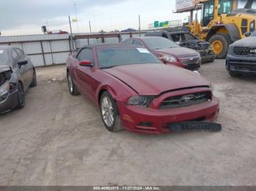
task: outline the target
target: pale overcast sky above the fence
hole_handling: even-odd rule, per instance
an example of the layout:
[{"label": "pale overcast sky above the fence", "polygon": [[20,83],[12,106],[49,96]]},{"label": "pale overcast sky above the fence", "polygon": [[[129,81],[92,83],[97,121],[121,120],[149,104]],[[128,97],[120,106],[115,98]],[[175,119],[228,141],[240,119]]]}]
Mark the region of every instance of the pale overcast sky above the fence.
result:
[{"label": "pale overcast sky above the fence", "polygon": [[0,31],[2,36],[42,34],[41,26],[48,30],[69,31],[68,15],[74,32],[113,31],[125,28],[148,28],[154,20],[184,20],[187,14],[173,14],[175,0],[0,0]]}]

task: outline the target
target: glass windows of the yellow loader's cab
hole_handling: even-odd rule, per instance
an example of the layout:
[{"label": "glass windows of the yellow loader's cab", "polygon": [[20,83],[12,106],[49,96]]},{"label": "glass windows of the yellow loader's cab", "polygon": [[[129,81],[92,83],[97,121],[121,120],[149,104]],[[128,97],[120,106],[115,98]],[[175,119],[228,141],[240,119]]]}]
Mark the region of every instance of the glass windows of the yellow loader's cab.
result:
[{"label": "glass windows of the yellow loader's cab", "polygon": [[[219,0],[218,15],[229,14],[233,10],[233,0]],[[205,27],[214,19],[214,1],[207,1],[203,4],[201,26]]]}]

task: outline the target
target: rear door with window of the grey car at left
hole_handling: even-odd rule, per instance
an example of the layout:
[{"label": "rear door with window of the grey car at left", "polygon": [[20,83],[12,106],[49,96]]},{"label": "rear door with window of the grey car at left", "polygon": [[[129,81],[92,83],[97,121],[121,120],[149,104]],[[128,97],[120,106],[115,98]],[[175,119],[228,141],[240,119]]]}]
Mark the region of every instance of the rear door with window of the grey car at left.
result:
[{"label": "rear door with window of the grey car at left", "polygon": [[20,56],[20,59],[22,61],[27,61],[28,63],[25,66],[26,72],[25,72],[25,77],[26,77],[26,81],[28,86],[31,84],[32,80],[33,80],[33,64],[31,63],[30,59],[24,54],[24,52],[22,50],[20,50],[19,48],[15,48],[15,51],[18,53],[18,55]]}]

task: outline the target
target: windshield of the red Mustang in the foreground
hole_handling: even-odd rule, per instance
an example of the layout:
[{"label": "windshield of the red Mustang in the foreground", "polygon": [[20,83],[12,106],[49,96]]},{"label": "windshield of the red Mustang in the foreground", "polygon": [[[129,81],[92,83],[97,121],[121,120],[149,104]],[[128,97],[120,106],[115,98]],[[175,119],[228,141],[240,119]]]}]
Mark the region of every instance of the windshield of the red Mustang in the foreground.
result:
[{"label": "windshield of the red Mustang in the foreground", "polygon": [[104,47],[97,50],[99,68],[132,64],[162,63],[146,48],[139,47]]}]

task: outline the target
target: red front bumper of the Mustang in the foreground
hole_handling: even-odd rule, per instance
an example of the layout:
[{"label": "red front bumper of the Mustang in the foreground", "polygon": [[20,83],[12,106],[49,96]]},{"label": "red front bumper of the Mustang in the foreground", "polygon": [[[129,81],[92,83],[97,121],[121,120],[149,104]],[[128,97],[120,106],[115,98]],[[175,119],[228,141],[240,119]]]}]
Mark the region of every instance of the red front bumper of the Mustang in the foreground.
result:
[{"label": "red front bumper of the Mustang in the foreground", "polygon": [[[211,101],[175,109],[151,109],[129,106],[117,102],[124,128],[135,133],[170,133],[168,125],[175,122],[204,121],[213,122],[219,114],[219,101]],[[150,126],[141,126],[151,124]]]}]

